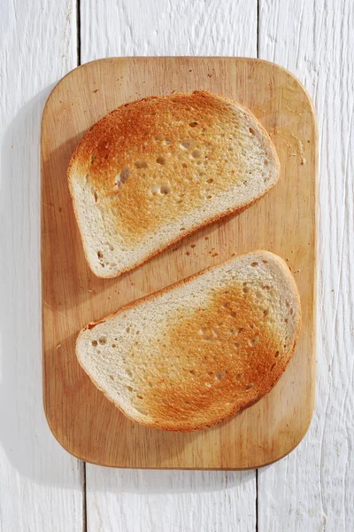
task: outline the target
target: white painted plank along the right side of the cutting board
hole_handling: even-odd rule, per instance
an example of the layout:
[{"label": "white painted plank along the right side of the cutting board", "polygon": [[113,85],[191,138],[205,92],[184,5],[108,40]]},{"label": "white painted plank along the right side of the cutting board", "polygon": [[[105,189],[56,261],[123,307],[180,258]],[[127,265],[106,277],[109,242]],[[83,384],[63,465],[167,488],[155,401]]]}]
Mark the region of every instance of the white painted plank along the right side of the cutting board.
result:
[{"label": "white painted plank along the right side of the cutting board", "polygon": [[259,472],[259,532],[354,530],[354,3],[261,0],[260,57],[304,82],[319,118],[317,395],[299,447]]}]

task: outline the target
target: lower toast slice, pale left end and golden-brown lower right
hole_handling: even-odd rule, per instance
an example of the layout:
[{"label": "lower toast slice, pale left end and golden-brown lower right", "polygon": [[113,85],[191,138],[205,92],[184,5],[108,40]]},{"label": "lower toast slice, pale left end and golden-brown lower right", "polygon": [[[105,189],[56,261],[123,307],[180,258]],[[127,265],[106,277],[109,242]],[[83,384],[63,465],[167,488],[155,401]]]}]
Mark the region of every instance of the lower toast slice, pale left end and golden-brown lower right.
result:
[{"label": "lower toast slice, pale left end and golden-brown lower right", "polygon": [[76,355],[129,419],[191,431],[266,395],[289,364],[300,323],[287,264],[258,251],[86,325]]}]

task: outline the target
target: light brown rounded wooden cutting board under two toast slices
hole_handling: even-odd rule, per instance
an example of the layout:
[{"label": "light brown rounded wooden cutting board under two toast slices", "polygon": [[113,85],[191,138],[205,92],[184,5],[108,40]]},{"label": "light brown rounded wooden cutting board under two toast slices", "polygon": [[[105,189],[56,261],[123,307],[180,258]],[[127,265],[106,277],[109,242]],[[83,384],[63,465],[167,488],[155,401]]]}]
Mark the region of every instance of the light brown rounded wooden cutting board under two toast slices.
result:
[{"label": "light brown rounded wooden cutting board under two toast slices", "polygon": [[[85,261],[65,171],[83,133],[128,101],[172,90],[235,98],[265,126],[281,179],[257,205],[184,239],[119,278],[96,278]],[[317,129],[296,78],[258,59],[102,59],[66,75],[42,118],[42,349],[44,408],[66,450],[116,467],[242,469],[284,457],[312,419],[315,379]],[[235,419],[191,434],[128,421],[74,355],[85,323],[186,278],[231,254],[267,249],[289,264],[303,327],[289,368],[272,392]]]}]

